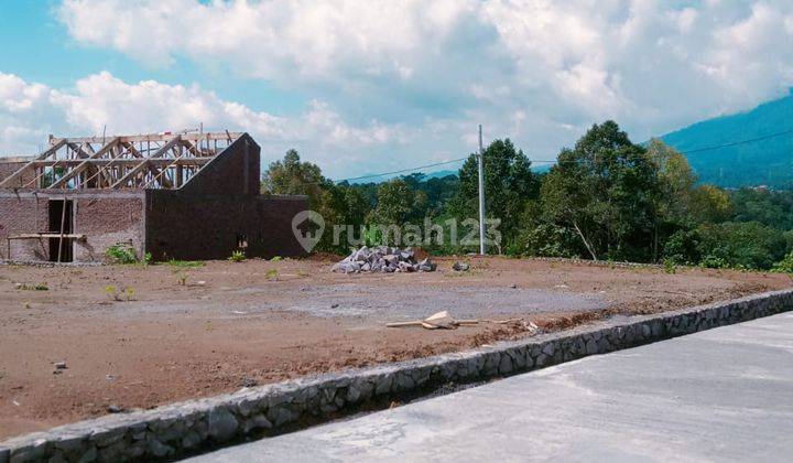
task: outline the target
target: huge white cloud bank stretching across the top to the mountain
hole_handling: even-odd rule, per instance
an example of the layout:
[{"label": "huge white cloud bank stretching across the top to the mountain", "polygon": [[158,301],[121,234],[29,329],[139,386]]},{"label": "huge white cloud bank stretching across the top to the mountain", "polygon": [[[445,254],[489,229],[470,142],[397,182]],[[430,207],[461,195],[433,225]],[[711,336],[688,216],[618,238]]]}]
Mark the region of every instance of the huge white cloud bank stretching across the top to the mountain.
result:
[{"label": "huge white cloud bank stretching across the top to the mountain", "polygon": [[643,138],[793,85],[790,1],[675,3],[65,0],[58,17],[78,42],[142,62],[220,60],[405,122],[423,105],[523,110],[560,125],[612,117]]}]

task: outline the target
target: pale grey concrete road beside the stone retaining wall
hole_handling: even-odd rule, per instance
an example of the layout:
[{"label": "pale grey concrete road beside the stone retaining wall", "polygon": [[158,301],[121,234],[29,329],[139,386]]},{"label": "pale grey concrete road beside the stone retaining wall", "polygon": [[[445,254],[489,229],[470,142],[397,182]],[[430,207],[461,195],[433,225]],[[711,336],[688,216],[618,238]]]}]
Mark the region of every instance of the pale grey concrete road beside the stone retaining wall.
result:
[{"label": "pale grey concrete road beside the stone retaining wall", "polygon": [[228,461],[792,461],[793,314],[229,448]]}]

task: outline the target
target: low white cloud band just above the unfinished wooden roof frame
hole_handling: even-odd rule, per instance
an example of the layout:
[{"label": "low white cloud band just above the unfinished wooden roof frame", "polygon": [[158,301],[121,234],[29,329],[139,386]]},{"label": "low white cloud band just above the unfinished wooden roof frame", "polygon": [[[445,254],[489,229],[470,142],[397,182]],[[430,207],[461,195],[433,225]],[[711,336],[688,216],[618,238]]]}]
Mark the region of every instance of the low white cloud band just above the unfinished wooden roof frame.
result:
[{"label": "low white cloud band just above the unfinished wooden roof frame", "polygon": [[289,148],[313,153],[334,171],[338,159],[360,161],[365,150],[399,146],[400,126],[377,120],[350,126],[324,101],[313,100],[295,117],[278,117],[227,101],[197,85],[154,80],[126,83],[107,72],[89,75],[73,91],[53,89],[0,73],[0,144],[6,154],[36,151],[47,133],[146,133],[197,129],[245,130],[263,146],[272,161]]}]

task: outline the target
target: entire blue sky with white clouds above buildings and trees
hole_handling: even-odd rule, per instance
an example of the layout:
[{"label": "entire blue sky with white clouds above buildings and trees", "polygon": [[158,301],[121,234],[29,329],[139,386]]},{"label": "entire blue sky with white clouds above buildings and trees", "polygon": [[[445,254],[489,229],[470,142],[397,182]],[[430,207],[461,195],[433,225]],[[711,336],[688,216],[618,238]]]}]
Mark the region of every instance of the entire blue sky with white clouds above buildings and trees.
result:
[{"label": "entire blue sky with white clouds above buildings and trees", "polygon": [[336,179],[464,157],[478,123],[552,159],[793,85],[783,0],[0,0],[0,155],[204,123]]}]

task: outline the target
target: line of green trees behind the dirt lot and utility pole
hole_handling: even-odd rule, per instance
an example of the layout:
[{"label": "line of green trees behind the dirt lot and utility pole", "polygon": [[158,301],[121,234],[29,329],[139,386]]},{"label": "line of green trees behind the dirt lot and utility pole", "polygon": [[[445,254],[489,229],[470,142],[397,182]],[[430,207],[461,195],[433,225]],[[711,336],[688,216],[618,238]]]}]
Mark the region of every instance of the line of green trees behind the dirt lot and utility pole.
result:
[{"label": "line of green trees behind the dirt lot and utility pole", "polygon": [[[792,192],[700,184],[683,154],[661,140],[633,143],[613,121],[594,125],[545,172],[532,171],[509,139],[495,140],[484,155],[487,217],[500,220],[501,240],[491,252],[793,270]],[[355,241],[376,245],[388,237],[367,225],[443,228],[450,218],[477,218],[477,181],[472,153],[457,175],[336,184],[290,150],[270,164],[262,192],[307,195],[327,227],[350,225],[343,234],[358,233]],[[334,243],[326,233],[317,249],[347,252],[346,238]],[[477,250],[459,243],[423,247],[435,254]]]}]

